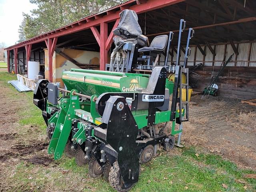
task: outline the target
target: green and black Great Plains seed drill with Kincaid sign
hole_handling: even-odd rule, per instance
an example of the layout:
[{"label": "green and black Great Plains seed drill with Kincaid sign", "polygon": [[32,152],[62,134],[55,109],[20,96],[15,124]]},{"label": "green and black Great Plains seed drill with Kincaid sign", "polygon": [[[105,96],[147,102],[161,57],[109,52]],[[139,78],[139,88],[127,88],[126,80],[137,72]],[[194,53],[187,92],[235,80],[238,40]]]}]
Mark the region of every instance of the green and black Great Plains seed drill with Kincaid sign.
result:
[{"label": "green and black Great Plains seed drill with Kincaid sign", "polygon": [[[188,100],[181,100],[179,90],[188,89],[188,69],[184,66],[193,30],[189,30],[184,64],[180,65],[177,57],[175,65],[167,65],[166,54],[165,64],[158,66],[159,54],[169,50],[173,33],[157,36],[150,46],[138,49],[138,44],[145,44],[147,39],[141,36],[137,15],[124,10],[120,16],[114,31],[118,35],[116,49],[106,65],[108,71],[65,71],[65,89],[40,80],[34,91],[34,104],[42,110],[51,139],[48,153],[54,154],[54,159],[60,159],[64,152],[75,157],[78,166],[88,163],[91,177],[103,174],[117,191],[127,191],[138,181],[140,164],[152,159],[158,144],[171,150],[174,134],[181,135],[181,124],[188,121]],[[135,27],[126,33],[129,36],[124,36],[124,30],[129,30],[122,28],[127,26],[127,17],[129,22],[135,21]],[[185,21],[181,20],[177,56],[184,28]],[[166,78],[167,72],[175,74],[174,81]],[[186,82],[182,82],[182,74],[186,75]],[[169,121],[172,131],[166,135],[164,129]],[[162,123],[165,124],[160,128]],[[176,124],[180,129],[175,129]]]}]

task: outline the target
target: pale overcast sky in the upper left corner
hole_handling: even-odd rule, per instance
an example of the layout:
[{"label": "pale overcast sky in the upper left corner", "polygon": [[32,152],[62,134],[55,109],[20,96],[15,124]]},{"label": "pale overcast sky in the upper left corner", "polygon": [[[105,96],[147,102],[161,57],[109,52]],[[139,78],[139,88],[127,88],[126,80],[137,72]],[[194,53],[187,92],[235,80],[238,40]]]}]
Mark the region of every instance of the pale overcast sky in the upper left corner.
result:
[{"label": "pale overcast sky in the upper left corner", "polygon": [[0,0],[0,43],[11,46],[18,41],[18,28],[22,22],[22,12],[30,13],[36,8],[29,0]]}]

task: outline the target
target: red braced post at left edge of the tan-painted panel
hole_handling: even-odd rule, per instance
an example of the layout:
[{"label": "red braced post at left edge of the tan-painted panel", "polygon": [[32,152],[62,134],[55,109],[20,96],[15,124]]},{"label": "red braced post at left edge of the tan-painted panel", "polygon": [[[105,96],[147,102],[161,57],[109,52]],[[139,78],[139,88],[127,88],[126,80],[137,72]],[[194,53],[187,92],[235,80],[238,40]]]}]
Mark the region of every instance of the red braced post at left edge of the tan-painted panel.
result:
[{"label": "red braced post at left edge of the tan-painted panel", "polygon": [[52,82],[52,56],[54,54],[55,46],[57,43],[58,38],[48,38],[45,40],[46,46],[48,48],[48,67],[49,67],[49,81]]}]

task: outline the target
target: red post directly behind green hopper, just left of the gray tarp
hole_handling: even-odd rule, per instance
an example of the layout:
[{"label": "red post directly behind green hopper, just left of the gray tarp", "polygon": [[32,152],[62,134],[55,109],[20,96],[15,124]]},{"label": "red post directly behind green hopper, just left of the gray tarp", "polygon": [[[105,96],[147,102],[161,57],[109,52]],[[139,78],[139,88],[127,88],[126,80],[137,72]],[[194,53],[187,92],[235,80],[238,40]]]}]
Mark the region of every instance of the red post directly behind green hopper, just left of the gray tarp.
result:
[{"label": "red post directly behind green hopper, just left of the gray tarp", "polygon": [[108,62],[108,51],[105,43],[108,39],[108,23],[100,23],[100,70],[104,71],[106,63]]}]

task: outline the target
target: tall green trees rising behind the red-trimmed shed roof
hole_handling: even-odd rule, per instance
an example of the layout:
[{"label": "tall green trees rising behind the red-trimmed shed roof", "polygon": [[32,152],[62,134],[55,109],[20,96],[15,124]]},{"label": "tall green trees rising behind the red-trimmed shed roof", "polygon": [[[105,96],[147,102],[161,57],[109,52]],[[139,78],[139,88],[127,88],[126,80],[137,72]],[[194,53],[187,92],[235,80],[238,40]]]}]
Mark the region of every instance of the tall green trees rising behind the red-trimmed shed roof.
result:
[{"label": "tall green trees rising behind the red-trimmed shed roof", "polygon": [[23,13],[19,42],[54,30],[125,0],[30,0],[38,8]]}]

